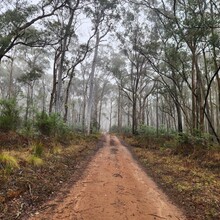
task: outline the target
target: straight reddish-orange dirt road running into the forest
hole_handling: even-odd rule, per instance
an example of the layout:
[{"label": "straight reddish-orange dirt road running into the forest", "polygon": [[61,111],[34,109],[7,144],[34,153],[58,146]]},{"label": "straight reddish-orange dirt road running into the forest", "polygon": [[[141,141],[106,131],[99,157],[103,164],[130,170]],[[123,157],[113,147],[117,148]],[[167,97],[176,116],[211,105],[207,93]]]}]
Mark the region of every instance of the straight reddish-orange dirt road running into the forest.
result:
[{"label": "straight reddish-orange dirt road running into the forest", "polygon": [[46,204],[31,218],[47,220],[183,220],[156,184],[115,136],[88,166],[84,178],[63,198]]}]

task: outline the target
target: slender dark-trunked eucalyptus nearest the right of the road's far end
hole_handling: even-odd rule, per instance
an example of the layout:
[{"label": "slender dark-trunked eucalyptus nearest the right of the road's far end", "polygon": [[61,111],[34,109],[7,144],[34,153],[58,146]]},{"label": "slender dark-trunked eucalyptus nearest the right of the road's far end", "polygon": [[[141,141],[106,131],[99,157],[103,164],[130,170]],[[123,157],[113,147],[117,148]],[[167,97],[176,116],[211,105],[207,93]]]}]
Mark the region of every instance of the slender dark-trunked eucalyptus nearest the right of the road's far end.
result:
[{"label": "slender dark-trunked eucalyptus nearest the right of the road's far end", "polygon": [[[134,10],[134,9],[133,9]],[[126,11],[122,26],[123,31],[117,32],[117,37],[120,40],[120,47],[124,56],[127,58],[127,74],[122,76],[125,78],[125,85],[121,85],[123,92],[127,95],[132,103],[132,133],[136,134],[138,124],[143,118],[144,111],[142,108],[149,92],[144,94],[146,90],[152,88],[150,85],[154,76],[149,76],[151,66],[148,59],[139,50],[142,45],[148,43],[149,36],[146,34],[147,24],[142,20],[142,12]],[[122,82],[122,80],[121,80]],[[123,82],[123,83],[124,83]],[[138,114],[138,101],[139,101],[139,114]],[[143,103],[142,103],[143,102]],[[142,111],[142,113],[141,113]]]}]

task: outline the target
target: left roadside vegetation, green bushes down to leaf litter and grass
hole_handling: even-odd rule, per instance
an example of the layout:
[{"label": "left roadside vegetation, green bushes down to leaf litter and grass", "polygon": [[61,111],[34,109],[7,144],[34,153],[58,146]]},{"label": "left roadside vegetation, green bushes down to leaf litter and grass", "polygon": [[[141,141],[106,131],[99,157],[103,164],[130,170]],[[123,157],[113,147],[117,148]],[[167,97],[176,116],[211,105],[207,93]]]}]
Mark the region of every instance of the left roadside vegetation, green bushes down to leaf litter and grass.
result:
[{"label": "left roadside vegetation, green bushes down to leaf litter and grass", "polygon": [[78,180],[100,135],[85,136],[45,112],[22,124],[14,100],[0,107],[0,219],[22,219]]}]

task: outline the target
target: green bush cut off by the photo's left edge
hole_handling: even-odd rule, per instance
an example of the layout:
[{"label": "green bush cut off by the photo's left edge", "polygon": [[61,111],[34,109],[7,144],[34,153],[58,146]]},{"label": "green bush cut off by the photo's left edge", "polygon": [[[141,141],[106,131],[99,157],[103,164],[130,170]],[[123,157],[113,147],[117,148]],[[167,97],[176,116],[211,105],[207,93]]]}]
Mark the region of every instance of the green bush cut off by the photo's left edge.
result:
[{"label": "green bush cut off by the photo's left edge", "polygon": [[19,110],[15,99],[0,100],[0,130],[16,130],[20,122]]}]

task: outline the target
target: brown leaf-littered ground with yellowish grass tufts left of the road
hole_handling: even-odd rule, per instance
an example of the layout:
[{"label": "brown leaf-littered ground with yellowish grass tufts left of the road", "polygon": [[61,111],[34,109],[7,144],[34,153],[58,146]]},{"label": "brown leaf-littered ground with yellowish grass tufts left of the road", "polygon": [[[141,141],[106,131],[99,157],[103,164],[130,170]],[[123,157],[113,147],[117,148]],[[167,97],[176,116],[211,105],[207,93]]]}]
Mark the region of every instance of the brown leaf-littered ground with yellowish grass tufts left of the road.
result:
[{"label": "brown leaf-littered ground with yellowish grass tufts left of the road", "polygon": [[[68,193],[102,146],[99,139],[100,135],[73,134],[56,140],[0,133],[0,156],[6,152],[9,165],[18,163],[15,169],[8,169],[0,160],[0,219],[27,219],[48,199]],[[36,146],[40,155],[35,155]]]}]

